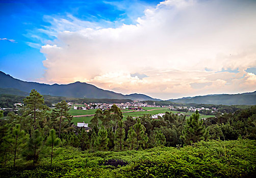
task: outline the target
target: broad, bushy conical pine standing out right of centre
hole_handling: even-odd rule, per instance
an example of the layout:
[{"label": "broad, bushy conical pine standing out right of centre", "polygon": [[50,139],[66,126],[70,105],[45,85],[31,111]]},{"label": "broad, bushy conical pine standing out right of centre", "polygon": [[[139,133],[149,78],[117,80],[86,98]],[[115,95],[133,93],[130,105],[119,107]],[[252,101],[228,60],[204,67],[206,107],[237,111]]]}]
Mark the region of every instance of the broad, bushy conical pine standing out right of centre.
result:
[{"label": "broad, bushy conical pine standing out right of centre", "polygon": [[196,110],[186,121],[181,138],[185,144],[192,144],[196,141],[206,140],[208,131],[203,126],[203,120],[199,120],[199,113]]}]

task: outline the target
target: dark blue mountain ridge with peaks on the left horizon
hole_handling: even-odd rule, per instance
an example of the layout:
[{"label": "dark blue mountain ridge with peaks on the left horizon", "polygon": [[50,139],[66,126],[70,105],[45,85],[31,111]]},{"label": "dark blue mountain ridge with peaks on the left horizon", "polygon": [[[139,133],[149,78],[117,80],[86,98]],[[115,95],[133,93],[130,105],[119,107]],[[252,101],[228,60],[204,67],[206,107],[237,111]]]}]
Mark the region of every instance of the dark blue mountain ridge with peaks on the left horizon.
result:
[{"label": "dark blue mountain ridge with peaks on the left horizon", "polygon": [[[15,79],[10,75],[5,74],[0,71],[0,88],[15,88],[22,92],[30,93],[32,89],[35,89],[42,95],[50,96],[62,96],[69,98],[95,98],[95,99],[130,99],[130,100],[153,100],[160,101],[160,99],[151,98],[143,94],[131,94],[131,95],[122,95],[119,93],[107,91],[100,89],[92,84],[74,82],[70,84],[44,84],[37,82],[27,82],[19,79]],[[8,89],[10,90],[10,89]],[[11,89],[12,92],[8,94],[18,95],[20,91]],[[1,90],[0,90],[1,92]],[[3,92],[3,90],[2,90]]]}]

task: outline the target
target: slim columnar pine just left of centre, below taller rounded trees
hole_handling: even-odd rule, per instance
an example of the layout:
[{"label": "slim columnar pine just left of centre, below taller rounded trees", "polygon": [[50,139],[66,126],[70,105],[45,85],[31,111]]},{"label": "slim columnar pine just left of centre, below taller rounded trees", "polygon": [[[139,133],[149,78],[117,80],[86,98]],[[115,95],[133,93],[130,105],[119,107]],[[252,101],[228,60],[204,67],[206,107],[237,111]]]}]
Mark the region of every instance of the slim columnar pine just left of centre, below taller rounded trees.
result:
[{"label": "slim columnar pine just left of centre, below taller rounded trees", "polygon": [[121,120],[118,122],[118,128],[115,134],[115,150],[116,151],[123,150],[124,138],[125,138],[125,131],[124,131],[123,121]]}]

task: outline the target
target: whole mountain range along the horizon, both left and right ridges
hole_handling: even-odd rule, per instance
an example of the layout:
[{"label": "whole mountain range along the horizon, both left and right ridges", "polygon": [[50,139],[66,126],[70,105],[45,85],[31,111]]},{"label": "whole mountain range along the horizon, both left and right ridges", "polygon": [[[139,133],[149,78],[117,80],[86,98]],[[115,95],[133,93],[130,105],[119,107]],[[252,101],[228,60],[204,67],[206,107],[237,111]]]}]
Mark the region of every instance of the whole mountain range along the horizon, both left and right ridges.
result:
[{"label": "whole mountain range along the horizon, both left and right ridges", "polygon": [[[123,95],[98,88],[92,84],[74,82],[69,84],[44,84],[15,79],[0,71],[0,94],[28,96],[32,89],[42,95],[62,96],[68,98],[94,99],[130,99],[136,101],[162,101],[143,94]],[[196,97],[184,97],[166,100],[175,103],[223,104],[223,105],[256,105],[256,91],[242,94],[218,94]]]}]

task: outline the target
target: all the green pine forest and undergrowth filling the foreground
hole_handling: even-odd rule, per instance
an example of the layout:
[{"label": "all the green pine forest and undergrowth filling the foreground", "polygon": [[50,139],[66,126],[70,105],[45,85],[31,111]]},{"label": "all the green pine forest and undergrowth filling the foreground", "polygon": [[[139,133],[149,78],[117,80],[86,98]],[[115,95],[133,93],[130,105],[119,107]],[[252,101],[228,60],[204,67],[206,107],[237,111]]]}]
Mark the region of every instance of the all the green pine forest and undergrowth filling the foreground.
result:
[{"label": "all the green pine forest and undergrowth filling the foreground", "polygon": [[96,110],[89,128],[79,128],[65,100],[50,110],[33,90],[23,103],[0,120],[5,177],[255,175],[256,106],[202,120],[198,111],[188,119],[166,112],[156,120],[123,120],[113,105]]}]

